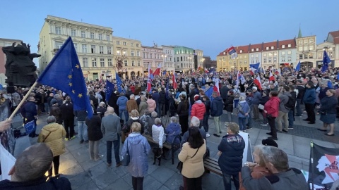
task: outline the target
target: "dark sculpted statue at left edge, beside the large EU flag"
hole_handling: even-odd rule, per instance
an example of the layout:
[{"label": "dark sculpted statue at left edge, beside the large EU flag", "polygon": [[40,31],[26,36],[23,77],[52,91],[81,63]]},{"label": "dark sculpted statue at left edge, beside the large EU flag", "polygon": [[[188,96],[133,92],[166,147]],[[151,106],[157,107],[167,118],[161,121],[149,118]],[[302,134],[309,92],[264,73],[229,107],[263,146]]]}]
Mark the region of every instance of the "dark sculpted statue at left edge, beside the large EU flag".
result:
[{"label": "dark sculpted statue at left edge, beside the large EU flag", "polygon": [[41,55],[30,53],[30,44],[16,44],[2,48],[6,54],[6,83],[9,86],[29,87],[37,80],[35,71],[37,67],[33,63],[33,58],[38,58]]}]

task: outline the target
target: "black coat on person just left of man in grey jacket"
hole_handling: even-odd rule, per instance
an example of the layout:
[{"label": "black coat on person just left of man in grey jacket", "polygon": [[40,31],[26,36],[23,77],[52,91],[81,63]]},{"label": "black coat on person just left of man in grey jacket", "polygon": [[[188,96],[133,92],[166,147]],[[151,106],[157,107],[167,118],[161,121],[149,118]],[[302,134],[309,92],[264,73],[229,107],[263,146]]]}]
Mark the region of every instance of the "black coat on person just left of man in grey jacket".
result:
[{"label": "black coat on person just left of man in grey jacket", "polygon": [[88,126],[88,140],[99,141],[102,139],[101,118],[99,115],[93,115],[90,119],[86,118],[86,125]]}]

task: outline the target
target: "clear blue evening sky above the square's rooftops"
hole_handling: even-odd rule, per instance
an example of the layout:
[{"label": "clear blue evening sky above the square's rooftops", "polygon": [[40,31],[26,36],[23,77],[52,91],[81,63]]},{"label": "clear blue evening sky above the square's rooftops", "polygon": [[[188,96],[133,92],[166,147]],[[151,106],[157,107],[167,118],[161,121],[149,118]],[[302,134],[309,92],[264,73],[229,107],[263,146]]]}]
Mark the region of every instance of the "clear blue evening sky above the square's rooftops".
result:
[{"label": "clear blue evening sky above the square's rooftops", "polygon": [[[23,39],[37,52],[47,15],[112,27],[145,46],[180,45],[215,59],[230,46],[339,30],[338,0],[1,1],[0,38]],[[37,63],[37,59],[35,60]]]}]

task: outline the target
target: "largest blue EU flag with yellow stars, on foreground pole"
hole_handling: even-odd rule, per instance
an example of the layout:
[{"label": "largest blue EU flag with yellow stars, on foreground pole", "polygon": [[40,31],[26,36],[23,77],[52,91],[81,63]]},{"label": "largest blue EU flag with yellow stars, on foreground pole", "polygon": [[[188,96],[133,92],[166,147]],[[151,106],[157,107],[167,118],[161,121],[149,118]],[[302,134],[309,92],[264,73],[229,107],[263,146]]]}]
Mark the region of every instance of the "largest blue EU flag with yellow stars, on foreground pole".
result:
[{"label": "largest blue EU flag with yellow stars, on foreground pole", "polygon": [[64,91],[71,97],[74,110],[87,110],[88,118],[92,117],[83,71],[71,37],[61,46],[37,82]]}]

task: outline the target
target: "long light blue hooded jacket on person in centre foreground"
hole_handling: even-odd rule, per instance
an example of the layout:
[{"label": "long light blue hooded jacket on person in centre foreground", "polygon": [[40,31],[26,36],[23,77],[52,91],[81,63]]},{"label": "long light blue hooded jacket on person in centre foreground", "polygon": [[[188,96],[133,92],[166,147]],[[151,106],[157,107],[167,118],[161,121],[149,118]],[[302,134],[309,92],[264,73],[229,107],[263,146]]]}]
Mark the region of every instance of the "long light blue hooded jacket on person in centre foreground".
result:
[{"label": "long light blue hooded jacket on person in centre foreground", "polygon": [[130,163],[129,173],[133,177],[144,177],[148,171],[148,154],[150,153],[150,144],[140,133],[132,132],[124,142],[121,150],[121,156],[124,156],[129,150]]}]

